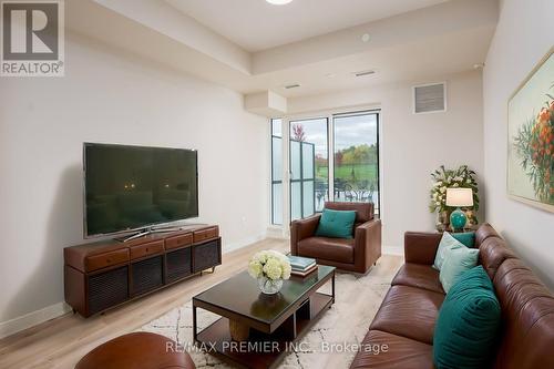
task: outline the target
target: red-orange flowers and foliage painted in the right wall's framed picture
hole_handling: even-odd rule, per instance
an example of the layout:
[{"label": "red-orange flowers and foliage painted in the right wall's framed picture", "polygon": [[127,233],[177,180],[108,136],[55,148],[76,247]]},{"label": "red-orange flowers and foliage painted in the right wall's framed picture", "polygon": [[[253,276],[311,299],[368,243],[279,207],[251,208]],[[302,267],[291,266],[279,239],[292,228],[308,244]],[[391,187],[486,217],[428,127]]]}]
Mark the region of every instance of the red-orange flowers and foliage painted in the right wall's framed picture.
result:
[{"label": "red-orange flowers and foliage painted in the right wall's framed picture", "polygon": [[513,145],[536,198],[554,204],[554,96],[546,99],[538,114],[521,125]]}]

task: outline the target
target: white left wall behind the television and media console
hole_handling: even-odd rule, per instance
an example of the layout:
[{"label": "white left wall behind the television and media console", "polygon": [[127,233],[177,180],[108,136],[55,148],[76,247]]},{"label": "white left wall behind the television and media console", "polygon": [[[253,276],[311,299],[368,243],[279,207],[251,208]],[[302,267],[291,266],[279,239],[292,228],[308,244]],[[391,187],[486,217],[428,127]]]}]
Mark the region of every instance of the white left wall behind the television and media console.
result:
[{"label": "white left wall behind the television and media console", "polygon": [[0,322],[63,300],[85,141],[197,148],[198,221],[224,252],[268,224],[269,125],[240,94],[74,34],[65,50],[65,78],[0,80]]}]

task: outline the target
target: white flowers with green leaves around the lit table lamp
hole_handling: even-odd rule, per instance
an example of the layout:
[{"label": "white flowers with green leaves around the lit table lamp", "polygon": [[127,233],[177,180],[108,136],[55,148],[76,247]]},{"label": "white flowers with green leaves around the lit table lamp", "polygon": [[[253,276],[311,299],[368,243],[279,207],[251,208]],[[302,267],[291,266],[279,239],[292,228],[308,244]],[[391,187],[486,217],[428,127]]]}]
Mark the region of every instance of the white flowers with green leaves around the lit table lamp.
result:
[{"label": "white flowers with green leaves around the lit table lamp", "polygon": [[431,173],[433,186],[431,187],[431,202],[429,211],[439,214],[437,228],[443,230],[450,223],[451,208],[447,206],[447,188],[471,188],[473,191],[473,207],[466,208],[465,215],[470,224],[476,224],[478,218],[475,212],[479,211],[479,188],[475,180],[475,172],[468,168],[468,165],[462,165],[456,170],[447,170],[441,165],[437,171]]}]

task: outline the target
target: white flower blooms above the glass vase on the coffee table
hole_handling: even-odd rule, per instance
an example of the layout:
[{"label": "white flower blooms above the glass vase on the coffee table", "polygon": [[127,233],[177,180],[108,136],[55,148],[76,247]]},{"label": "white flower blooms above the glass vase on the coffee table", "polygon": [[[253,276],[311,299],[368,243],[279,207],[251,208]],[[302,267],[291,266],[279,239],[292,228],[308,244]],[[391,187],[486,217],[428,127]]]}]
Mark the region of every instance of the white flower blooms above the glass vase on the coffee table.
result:
[{"label": "white flower blooms above the glass vase on the coffee table", "polygon": [[279,252],[263,250],[250,258],[248,274],[256,279],[263,277],[271,280],[288,279],[290,278],[290,262]]}]

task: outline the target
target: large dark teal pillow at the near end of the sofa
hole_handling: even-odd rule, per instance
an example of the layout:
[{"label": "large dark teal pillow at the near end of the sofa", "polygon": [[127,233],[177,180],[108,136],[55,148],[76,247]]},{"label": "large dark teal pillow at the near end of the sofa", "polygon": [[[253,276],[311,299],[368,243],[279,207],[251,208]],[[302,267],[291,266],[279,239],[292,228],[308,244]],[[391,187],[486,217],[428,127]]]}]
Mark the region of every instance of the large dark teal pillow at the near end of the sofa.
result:
[{"label": "large dark teal pillow at the near end of the sofa", "polygon": [[448,293],[433,337],[433,360],[442,368],[490,368],[501,308],[482,266],[465,271]]}]

